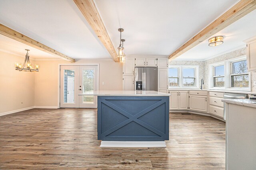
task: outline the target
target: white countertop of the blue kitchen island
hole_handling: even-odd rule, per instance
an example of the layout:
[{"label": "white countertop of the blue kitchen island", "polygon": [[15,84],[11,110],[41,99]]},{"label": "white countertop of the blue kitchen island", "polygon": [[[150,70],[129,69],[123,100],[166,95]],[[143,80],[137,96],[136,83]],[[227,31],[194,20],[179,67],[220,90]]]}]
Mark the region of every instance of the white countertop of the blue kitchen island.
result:
[{"label": "white countertop of the blue kitchen island", "polygon": [[171,96],[170,94],[156,91],[134,90],[99,90],[78,94],[78,96]]}]

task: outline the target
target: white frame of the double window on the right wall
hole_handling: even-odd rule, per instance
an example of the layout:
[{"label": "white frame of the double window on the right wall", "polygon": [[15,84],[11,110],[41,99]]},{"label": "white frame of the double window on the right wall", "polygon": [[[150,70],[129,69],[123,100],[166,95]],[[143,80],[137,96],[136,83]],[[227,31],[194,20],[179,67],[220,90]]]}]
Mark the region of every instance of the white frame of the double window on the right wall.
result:
[{"label": "white frame of the double window on the right wall", "polygon": [[[239,75],[239,74],[233,74],[233,63],[239,62],[239,61],[244,61],[247,60],[246,59],[246,55],[242,55],[240,57],[236,57],[233,59],[228,59],[225,61],[221,61],[218,63],[213,63],[213,64],[209,64],[209,89],[214,89],[214,90],[233,90],[233,91],[251,91],[251,73],[247,72],[247,73],[241,73],[240,75],[244,75],[244,74],[248,74],[249,77],[249,87],[242,87],[242,88],[238,88],[238,87],[232,87],[232,76],[234,75]],[[214,87],[214,80],[213,78],[213,69],[214,66],[220,66],[224,64],[224,78],[225,78],[225,86],[224,87]],[[222,76],[221,76],[222,77]]]}]

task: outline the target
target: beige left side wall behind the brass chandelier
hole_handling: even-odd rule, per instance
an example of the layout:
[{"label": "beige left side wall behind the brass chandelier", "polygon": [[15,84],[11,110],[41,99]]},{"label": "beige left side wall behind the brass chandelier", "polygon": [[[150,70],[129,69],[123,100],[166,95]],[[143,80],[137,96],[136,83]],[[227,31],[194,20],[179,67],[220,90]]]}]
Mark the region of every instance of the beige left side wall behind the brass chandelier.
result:
[{"label": "beige left side wall behind the brass chandelier", "polygon": [[15,62],[23,63],[24,59],[0,51],[0,113],[34,106],[34,78],[38,72],[14,68]]}]

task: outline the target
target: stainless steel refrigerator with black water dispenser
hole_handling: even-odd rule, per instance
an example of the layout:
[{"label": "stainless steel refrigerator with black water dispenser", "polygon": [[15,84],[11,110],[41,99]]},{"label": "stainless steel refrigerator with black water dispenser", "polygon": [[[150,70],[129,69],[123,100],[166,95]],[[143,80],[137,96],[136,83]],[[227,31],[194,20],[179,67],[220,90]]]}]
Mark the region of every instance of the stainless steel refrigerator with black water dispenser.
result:
[{"label": "stainless steel refrigerator with black water dispenser", "polygon": [[135,67],[135,90],[158,91],[158,68]]}]

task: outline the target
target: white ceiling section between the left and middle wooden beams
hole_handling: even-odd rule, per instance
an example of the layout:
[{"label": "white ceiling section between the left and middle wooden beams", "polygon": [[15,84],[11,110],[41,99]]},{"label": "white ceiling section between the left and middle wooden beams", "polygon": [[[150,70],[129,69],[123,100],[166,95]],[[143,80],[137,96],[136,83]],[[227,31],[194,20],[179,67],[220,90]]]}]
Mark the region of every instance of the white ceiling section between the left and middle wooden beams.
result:
[{"label": "white ceiling section between the left and middle wooden beams", "polygon": [[73,0],[0,0],[0,23],[74,59],[111,59]]}]

